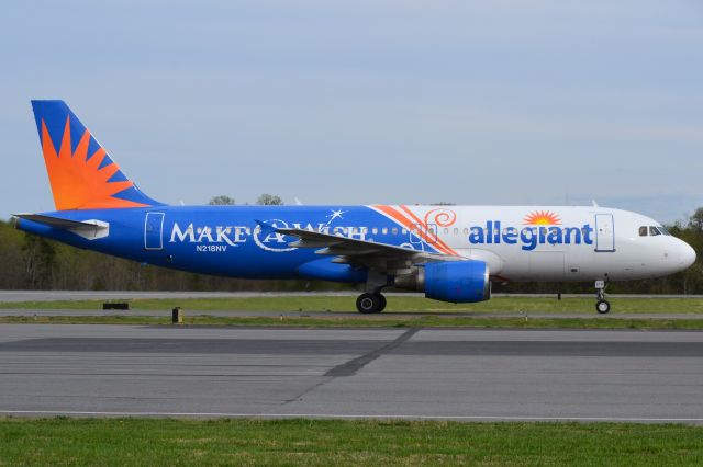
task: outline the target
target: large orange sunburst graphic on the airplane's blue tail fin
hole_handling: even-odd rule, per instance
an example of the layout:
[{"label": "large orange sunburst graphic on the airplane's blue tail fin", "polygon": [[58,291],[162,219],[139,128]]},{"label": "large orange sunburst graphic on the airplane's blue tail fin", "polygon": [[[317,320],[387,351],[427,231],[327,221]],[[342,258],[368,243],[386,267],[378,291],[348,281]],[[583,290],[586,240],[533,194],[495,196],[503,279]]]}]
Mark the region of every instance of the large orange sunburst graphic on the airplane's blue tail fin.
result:
[{"label": "large orange sunburst graphic on the airplane's blue tail fin", "polygon": [[[77,135],[78,136],[78,135]],[[142,207],[145,204],[121,200],[114,195],[134,185],[133,182],[110,181],[120,170],[103,148],[88,155],[90,132],[79,136],[76,150],[71,150],[70,116],[66,118],[64,135],[58,152],[52,141],[46,123],[42,119],[42,151],[48,172],[54,203],[57,210],[101,209],[114,207]],[[109,163],[100,167],[108,157]]]}]

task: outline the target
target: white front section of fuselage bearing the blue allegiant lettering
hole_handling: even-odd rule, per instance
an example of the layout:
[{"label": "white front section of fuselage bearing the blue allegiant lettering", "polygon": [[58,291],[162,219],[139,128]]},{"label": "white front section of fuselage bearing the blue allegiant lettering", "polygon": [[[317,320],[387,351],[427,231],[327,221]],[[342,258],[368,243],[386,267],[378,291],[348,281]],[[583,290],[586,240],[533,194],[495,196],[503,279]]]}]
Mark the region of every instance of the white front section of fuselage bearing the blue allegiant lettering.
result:
[{"label": "white front section of fuselage bearing the blue allegiant lettering", "polygon": [[[411,206],[429,236],[494,280],[626,281],[682,271],[695,252],[646,216],[598,206]],[[443,215],[444,214],[444,215]],[[655,229],[651,229],[654,227]],[[646,235],[643,235],[646,234]]]}]

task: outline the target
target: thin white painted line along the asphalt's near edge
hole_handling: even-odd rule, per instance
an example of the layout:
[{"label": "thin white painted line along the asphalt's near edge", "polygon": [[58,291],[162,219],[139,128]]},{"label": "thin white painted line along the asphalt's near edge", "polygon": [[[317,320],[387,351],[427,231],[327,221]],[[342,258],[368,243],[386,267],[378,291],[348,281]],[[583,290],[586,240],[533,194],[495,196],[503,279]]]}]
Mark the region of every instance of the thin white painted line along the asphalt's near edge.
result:
[{"label": "thin white painted line along the asphalt's near edge", "polygon": [[382,415],[337,413],[227,413],[227,412],[111,412],[77,410],[0,410],[0,414],[26,415],[103,415],[103,417],[201,417],[201,418],[257,418],[257,419],[408,419],[408,420],[522,420],[522,421],[599,421],[599,422],[703,422],[703,418],[648,418],[648,417],[509,417],[509,415]]}]

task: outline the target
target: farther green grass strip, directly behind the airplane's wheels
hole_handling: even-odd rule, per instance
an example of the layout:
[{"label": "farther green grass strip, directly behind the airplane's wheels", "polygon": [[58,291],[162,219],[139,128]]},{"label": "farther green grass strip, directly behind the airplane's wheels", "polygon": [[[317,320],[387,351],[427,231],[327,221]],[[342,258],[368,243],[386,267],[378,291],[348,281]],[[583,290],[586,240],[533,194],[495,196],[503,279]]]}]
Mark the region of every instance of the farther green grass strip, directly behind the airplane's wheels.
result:
[{"label": "farther green grass strip, directly behind the airplane's wheels", "polygon": [[[235,297],[235,298],[178,298],[178,299],[133,299],[134,310],[166,310],[180,306],[188,310],[220,311],[356,311],[354,296],[279,296],[279,297]],[[119,301],[119,300],[113,300]],[[701,314],[703,298],[612,298],[614,314]],[[417,296],[389,296],[384,314],[397,311],[428,312],[554,312],[594,314],[593,298],[568,297],[562,300],[548,297],[495,297],[479,304],[447,304]],[[22,309],[101,309],[101,300],[20,301],[0,303],[0,308]]]}]

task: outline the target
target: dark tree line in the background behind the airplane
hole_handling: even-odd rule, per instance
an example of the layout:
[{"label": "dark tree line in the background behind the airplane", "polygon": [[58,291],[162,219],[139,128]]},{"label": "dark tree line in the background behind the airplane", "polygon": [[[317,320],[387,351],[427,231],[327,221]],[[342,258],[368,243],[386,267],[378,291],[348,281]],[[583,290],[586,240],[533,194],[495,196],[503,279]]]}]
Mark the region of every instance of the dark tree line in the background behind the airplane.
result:
[{"label": "dark tree line in the background behind the airplane", "polygon": [[[216,196],[210,204],[234,204]],[[257,204],[280,205],[276,195],[263,195]],[[668,277],[614,282],[611,293],[703,294],[703,207],[687,219],[667,226],[698,253],[687,271]],[[343,289],[350,286],[308,281],[252,281],[215,277],[142,265],[134,261],[81,250],[16,230],[0,220],[0,289],[76,291],[304,291]],[[592,293],[592,283],[494,284],[494,292]]]}]

